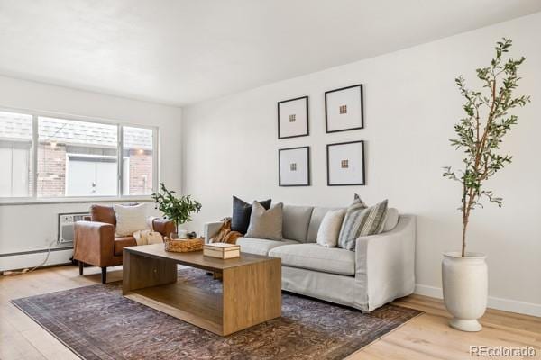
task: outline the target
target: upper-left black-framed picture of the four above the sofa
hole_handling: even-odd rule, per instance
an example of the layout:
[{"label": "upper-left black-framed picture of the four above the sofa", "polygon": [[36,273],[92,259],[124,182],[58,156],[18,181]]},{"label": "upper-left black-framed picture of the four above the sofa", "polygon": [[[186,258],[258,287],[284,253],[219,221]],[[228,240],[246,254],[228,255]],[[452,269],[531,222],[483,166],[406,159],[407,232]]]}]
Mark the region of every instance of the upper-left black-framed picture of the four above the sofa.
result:
[{"label": "upper-left black-framed picture of the four above the sofa", "polygon": [[308,96],[278,103],[278,139],[308,136]]}]

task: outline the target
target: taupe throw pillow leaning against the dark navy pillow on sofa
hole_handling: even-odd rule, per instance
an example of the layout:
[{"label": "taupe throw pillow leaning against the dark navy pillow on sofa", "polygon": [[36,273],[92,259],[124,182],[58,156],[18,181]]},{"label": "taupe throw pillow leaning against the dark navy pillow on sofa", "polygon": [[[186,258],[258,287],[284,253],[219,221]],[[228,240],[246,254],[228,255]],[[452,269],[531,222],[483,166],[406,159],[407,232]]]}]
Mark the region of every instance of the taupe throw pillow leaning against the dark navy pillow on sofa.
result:
[{"label": "taupe throw pillow leaning against the dark navy pillow on sofa", "polygon": [[253,202],[250,225],[246,238],[268,238],[270,240],[281,240],[282,236],[282,215],[283,203],[279,202],[271,209],[265,208],[259,202]]}]

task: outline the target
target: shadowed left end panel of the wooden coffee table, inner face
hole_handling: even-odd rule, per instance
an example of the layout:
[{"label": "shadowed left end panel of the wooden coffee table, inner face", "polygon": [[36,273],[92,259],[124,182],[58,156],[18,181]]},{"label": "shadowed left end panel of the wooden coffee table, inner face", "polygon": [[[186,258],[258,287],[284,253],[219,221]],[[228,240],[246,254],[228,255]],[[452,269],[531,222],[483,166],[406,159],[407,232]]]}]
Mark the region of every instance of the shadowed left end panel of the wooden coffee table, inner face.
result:
[{"label": "shadowed left end panel of the wooden coffee table, inner face", "polygon": [[177,281],[177,264],[124,249],[122,293]]}]

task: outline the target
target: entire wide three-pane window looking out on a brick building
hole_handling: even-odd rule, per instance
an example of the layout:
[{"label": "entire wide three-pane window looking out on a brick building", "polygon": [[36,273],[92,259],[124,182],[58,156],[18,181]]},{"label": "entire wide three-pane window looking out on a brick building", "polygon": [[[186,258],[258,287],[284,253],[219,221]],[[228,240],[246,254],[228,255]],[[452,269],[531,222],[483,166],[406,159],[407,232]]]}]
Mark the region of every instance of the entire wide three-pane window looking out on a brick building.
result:
[{"label": "entire wide three-pane window looking out on a brick building", "polygon": [[150,195],[155,139],[150,128],[0,112],[0,198]]}]

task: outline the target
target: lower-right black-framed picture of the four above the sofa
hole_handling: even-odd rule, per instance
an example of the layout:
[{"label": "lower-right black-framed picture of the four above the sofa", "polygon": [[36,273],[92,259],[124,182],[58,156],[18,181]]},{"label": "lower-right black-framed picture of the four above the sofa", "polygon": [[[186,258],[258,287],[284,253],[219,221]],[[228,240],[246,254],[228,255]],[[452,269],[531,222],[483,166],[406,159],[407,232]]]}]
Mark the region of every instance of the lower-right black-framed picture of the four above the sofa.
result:
[{"label": "lower-right black-framed picture of the four above the sofa", "polygon": [[364,141],[327,145],[327,185],[364,185]]}]

